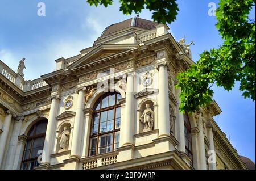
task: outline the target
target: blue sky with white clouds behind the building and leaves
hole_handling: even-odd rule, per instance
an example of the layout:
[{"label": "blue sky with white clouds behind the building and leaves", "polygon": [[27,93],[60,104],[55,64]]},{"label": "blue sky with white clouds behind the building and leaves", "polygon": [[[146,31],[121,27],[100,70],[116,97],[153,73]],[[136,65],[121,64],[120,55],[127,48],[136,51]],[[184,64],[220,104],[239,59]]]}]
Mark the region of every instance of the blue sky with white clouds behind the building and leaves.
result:
[{"label": "blue sky with white clouds behind the building and leaves", "polygon": [[[46,16],[37,15],[39,2],[46,4]],[[210,2],[218,1],[178,0],[179,15],[168,25],[176,40],[185,36],[187,42],[195,41],[191,47],[194,61],[203,50],[222,43],[216,19],[208,15]],[[255,18],[255,9],[252,14]],[[39,78],[55,69],[57,58],[79,54],[81,49],[92,46],[105,27],[132,16],[135,14],[119,12],[117,1],[105,9],[91,7],[85,0],[1,0],[0,60],[16,71],[19,60],[25,57],[25,78]],[[143,10],[140,17],[151,19],[151,13]],[[215,120],[230,135],[238,153],[255,162],[255,102],[243,99],[238,86],[229,92],[213,87],[213,98],[222,110]]]}]

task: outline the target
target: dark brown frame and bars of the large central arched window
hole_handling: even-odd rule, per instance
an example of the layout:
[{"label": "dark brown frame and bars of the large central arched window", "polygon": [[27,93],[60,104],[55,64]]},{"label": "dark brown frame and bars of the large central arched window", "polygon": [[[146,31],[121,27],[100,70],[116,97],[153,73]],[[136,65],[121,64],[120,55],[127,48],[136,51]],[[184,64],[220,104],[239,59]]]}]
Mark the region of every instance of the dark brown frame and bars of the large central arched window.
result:
[{"label": "dark brown frame and bars of the large central arched window", "polygon": [[[115,94],[115,103],[112,105],[112,106],[107,106],[107,107],[104,107],[104,108],[101,108],[102,106],[102,99],[106,98],[107,96],[110,96],[112,94]],[[96,100],[96,103],[94,104],[94,107],[93,107],[93,113],[92,113],[92,119],[91,119],[91,123],[90,123],[90,137],[89,137],[89,148],[88,148],[88,157],[91,157],[91,156],[94,156],[94,155],[98,155],[98,154],[104,154],[104,153],[99,153],[99,141],[100,141],[100,137],[101,136],[104,136],[104,135],[108,135],[108,134],[112,134],[112,145],[111,145],[111,149],[112,151],[114,151],[114,148],[115,148],[115,134],[119,132],[120,134],[120,127],[115,129],[115,124],[116,124],[116,119],[117,119],[117,108],[120,108],[120,111],[121,111],[121,103],[118,103],[118,99],[117,99],[117,95],[120,95],[120,93],[118,92],[108,92],[108,93],[105,93],[105,94],[102,94],[100,96],[100,98],[98,98]],[[109,100],[109,99],[108,99]],[[100,104],[100,108],[98,110],[96,110],[96,108],[98,107],[98,104]],[[108,132],[102,132],[100,133],[100,121],[101,121],[101,112],[104,112],[104,111],[110,111],[110,110],[114,110],[114,124],[113,124],[113,129],[111,131],[108,131]],[[97,129],[97,134],[93,134],[92,132],[92,129],[93,129],[93,119],[94,119],[94,115],[96,115],[96,113],[99,114],[99,117],[98,117],[98,129]],[[120,121],[121,121],[121,112],[120,112]],[[96,153],[94,155],[91,155],[91,144],[92,144],[92,138],[96,138]],[[120,139],[120,138],[119,138]],[[108,144],[106,144],[105,146],[107,146]],[[106,147],[107,148],[107,147]],[[109,153],[111,151],[106,151],[105,153]]]}]

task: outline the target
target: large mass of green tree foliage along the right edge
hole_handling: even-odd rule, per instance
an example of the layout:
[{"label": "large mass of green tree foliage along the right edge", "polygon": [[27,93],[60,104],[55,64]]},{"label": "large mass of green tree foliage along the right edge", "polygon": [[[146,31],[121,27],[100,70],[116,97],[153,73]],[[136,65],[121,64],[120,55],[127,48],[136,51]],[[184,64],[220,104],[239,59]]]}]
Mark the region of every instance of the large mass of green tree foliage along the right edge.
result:
[{"label": "large mass of green tree foliage along the right edge", "polygon": [[224,43],[205,50],[196,65],[178,75],[181,111],[210,103],[214,83],[229,91],[239,81],[242,95],[255,100],[255,19],[248,18],[255,0],[220,0],[218,5],[216,27]]}]

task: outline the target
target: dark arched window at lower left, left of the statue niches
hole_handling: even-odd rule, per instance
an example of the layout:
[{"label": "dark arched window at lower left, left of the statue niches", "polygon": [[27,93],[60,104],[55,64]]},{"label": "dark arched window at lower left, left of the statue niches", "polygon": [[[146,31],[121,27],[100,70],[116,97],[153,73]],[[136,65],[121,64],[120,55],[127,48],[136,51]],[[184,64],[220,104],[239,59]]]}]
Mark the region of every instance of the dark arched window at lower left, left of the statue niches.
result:
[{"label": "dark arched window at lower left, left of the statue niches", "polygon": [[47,119],[34,124],[27,133],[27,141],[22,157],[22,170],[32,170],[38,166],[38,150],[43,150],[44,137],[46,136]]}]

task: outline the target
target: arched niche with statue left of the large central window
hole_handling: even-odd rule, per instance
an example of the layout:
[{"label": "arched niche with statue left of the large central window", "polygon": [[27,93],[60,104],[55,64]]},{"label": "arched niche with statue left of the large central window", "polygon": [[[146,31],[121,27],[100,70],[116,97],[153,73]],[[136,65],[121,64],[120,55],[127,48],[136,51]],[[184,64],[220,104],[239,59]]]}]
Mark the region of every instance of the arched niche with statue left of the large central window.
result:
[{"label": "arched niche with statue left of the large central window", "polygon": [[[65,129],[65,130],[64,130]],[[71,150],[71,141],[73,135],[73,124],[71,121],[64,121],[59,125],[56,131],[56,151],[55,153],[60,153],[63,151]],[[61,146],[64,148],[61,148]]]}]

